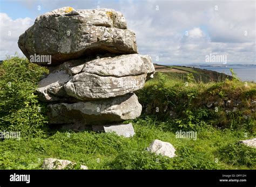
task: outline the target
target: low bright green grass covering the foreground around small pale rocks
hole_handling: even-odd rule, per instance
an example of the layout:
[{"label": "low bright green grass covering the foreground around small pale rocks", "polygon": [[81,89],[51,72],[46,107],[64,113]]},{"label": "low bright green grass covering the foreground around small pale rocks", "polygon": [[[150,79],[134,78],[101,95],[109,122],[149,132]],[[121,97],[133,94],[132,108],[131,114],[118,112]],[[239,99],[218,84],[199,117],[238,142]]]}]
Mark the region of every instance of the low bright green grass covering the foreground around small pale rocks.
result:
[{"label": "low bright green grass covering the foreground around small pale rocks", "polygon": [[[256,150],[237,144],[246,139],[245,132],[208,127],[198,131],[194,141],[176,138],[174,132],[164,130],[166,124],[150,117],[134,120],[133,125],[132,138],[84,131],[56,132],[46,139],[6,139],[0,144],[0,169],[41,169],[48,157],[89,169],[256,169]],[[147,152],[154,139],[171,142],[177,156],[169,159]]]}]

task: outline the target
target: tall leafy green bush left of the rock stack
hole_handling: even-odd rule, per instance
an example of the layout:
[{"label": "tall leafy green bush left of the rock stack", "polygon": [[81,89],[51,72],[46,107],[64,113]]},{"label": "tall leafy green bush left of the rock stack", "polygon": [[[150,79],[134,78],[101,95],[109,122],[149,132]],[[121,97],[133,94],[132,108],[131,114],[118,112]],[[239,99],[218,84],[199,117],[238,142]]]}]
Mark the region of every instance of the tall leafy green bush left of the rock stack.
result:
[{"label": "tall leafy green bush left of the rock stack", "polygon": [[34,94],[46,68],[18,56],[0,66],[0,131],[21,132],[21,136],[44,136],[45,105]]}]

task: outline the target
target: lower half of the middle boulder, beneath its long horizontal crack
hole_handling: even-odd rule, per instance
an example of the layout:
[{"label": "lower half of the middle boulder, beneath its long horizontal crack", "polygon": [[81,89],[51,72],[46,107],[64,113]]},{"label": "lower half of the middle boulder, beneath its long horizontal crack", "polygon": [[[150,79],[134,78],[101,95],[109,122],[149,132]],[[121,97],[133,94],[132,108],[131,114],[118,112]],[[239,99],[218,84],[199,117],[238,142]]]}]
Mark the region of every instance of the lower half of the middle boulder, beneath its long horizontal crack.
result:
[{"label": "lower half of the middle boulder, beneath its long horizontal crack", "polygon": [[145,81],[146,74],[112,77],[80,73],[66,83],[64,88],[68,95],[81,100],[102,99],[142,89]]}]

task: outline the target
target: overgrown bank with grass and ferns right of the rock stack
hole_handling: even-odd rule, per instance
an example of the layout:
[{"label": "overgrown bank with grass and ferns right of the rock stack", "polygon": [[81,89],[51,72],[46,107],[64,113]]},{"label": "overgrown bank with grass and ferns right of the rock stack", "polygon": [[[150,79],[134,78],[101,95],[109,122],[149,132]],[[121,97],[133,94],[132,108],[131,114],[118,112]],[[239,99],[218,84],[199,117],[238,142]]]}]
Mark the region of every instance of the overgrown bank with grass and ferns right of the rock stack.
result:
[{"label": "overgrown bank with grass and ferns right of the rock stack", "polygon": [[[196,82],[187,74],[185,81],[170,79],[158,72],[156,78],[137,91],[145,114],[154,114],[161,120],[172,121],[184,130],[196,130],[208,125],[232,130],[255,130],[255,111],[250,105],[256,99],[255,83],[225,80],[221,82]],[[225,106],[224,101],[239,100],[239,110]],[[208,105],[208,106],[207,106]],[[241,110],[240,110],[241,109]],[[246,118],[245,116],[250,116]]]}]

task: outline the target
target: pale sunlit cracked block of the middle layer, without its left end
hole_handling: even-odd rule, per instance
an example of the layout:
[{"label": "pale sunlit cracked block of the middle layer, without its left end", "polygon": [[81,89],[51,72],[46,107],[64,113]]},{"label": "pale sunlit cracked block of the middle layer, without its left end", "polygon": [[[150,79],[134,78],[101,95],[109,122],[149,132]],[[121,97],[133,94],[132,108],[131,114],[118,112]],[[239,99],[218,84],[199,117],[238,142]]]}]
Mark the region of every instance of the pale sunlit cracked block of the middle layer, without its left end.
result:
[{"label": "pale sunlit cracked block of the middle layer, without its left end", "polygon": [[64,88],[68,95],[81,100],[122,96],[144,87],[147,74],[152,73],[149,63],[150,58],[143,60],[138,54],[93,60],[85,63]]}]

